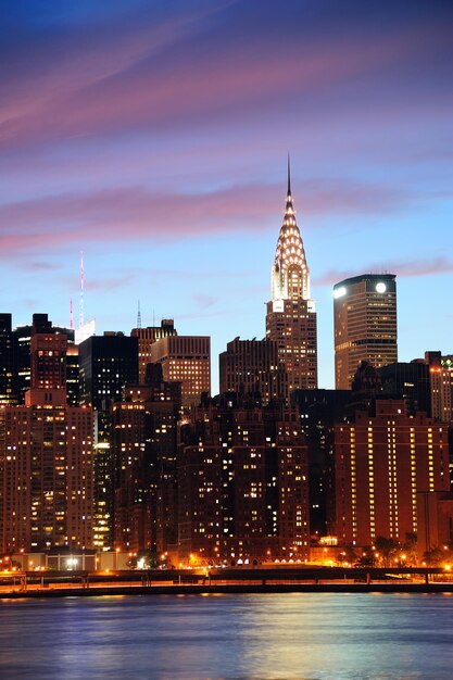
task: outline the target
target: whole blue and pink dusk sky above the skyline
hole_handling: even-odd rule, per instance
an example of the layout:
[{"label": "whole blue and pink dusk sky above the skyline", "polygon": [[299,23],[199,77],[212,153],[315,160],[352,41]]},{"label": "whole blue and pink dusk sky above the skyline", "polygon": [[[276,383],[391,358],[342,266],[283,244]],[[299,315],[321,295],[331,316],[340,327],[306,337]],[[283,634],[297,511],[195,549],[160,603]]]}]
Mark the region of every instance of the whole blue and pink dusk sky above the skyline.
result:
[{"label": "whole blue and pink dusk sky above the skyline", "polygon": [[0,312],[263,338],[287,154],[334,387],[332,285],[397,275],[399,360],[453,353],[453,3],[1,8]]}]

